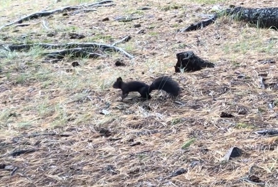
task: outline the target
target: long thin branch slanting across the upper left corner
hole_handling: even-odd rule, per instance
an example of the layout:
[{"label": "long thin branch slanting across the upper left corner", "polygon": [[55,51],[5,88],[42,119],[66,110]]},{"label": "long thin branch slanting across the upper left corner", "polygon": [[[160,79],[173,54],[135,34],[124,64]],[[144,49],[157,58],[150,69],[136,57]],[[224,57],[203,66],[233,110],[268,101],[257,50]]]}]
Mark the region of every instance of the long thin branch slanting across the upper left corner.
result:
[{"label": "long thin branch slanting across the upper left corner", "polygon": [[54,15],[54,14],[60,14],[60,13],[66,12],[66,11],[76,11],[76,10],[79,10],[79,9],[84,9],[84,8],[89,8],[89,7],[90,8],[98,7],[102,4],[112,3],[112,2],[113,2],[113,0],[103,0],[103,1],[95,2],[95,3],[91,3],[91,4],[80,4],[80,5],[77,5],[77,6],[65,6],[65,7],[55,9],[55,10],[37,12],[37,13],[27,15],[25,17],[21,17],[20,19],[12,21],[10,23],[6,23],[5,25],[2,25],[0,27],[0,30],[4,27],[11,26],[11,25],[16,24],[16,23],[22,23],[24,21],[28,21],[28,20],[31,20],[31,19],[37,19],[39,17],[47,17],[47,16]]}]

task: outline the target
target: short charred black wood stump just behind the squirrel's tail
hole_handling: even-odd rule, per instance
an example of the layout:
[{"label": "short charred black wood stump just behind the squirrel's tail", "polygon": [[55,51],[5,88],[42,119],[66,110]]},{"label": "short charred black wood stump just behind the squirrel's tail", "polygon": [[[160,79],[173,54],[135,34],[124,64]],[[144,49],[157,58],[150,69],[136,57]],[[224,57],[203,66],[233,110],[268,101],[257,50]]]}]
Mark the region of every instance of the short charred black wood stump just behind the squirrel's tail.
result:
[{"label": "short charred black wood stump just behind the squirrel's tail", "polygon": [[208,62],[206,60],[202,60],[198,56],[194,54],[193,51],[185,51],[185,52],[179,52],[177,53],[177,59],[178,62],[175,67],[175,72],[179,73],[181,72],[181,69],[183,71],[198,71],[202,68],[214,68],[215,65],[211,62]]}]

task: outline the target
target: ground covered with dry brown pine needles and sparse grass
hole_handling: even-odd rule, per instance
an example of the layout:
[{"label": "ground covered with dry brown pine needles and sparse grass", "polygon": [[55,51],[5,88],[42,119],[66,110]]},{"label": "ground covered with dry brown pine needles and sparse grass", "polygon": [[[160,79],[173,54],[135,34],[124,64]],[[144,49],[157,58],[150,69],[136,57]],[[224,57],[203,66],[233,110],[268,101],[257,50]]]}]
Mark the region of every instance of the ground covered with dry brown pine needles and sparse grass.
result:
[{"label": "ground covered with dry brown pine needles and sparse grass", "polygon": [[[86,2],[92,1],[5,0],[0,22]],[[0,51],[0,164],[6,165],[0,170],[0,187],[251,187],[240,178],[252,166],[252,174],[265,186],[277,187],[278,138],[254,134],[278,124],[277,107],[268,108],[268,102],[277,100],[277,91],[259,86],[263,73],[268,82],[277,83],[278,69],[276,64],[258,62],[277,59],[277,31],[220,18],[199,31],[175,32],[204,19],[201,14],[211,14],[216,4],[271,7],[277,2],[114,3],[95,12],[57,14],[0,31],[4,44],[112,44],[131,35],[118,47],[135,56],[128,59],[115,53],[108,58],[45,63],[39,48]],[[151,9],[138,10],[141,7]],[[113,20],[130,15],[144,17]],[[109,20],[102,21],[106,17]],[[134,28],[135,24],[141,26]],[[70,39],[69,33],[85,38]],[[189,50],[217,67],[175,74],[176,53]],[[116,67],[117,59],[126,66]],[[74,61],[80,66],[72,67]],[[130,93],[119,102],[121,92],[112,88],[119,76],[150,84],[162,74],[172,76],[184,89],[179,98],[167,99],[166,93],[155,91],[150,101],[140,102],[138,93]],[[110,113],[100,114],[103,109]],[[241,109],[245,114],[238,112]],[[223,111],[235,118],[220,118]],[[223,161],[233,146],[243,155]],[[16,155],[20,150],[31,151]],[[197,165],[190,167],[193,163]],[[180,169],[187,172],[171,176]]]}]

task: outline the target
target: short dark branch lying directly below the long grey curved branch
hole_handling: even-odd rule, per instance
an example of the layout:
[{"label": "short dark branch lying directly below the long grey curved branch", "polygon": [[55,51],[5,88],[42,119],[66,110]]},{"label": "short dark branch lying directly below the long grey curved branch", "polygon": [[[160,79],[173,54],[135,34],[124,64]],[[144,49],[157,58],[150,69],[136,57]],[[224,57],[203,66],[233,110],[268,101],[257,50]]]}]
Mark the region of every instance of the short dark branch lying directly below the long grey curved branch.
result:
[{"label": "short dark branch lying directly below the long grey curved branch", "polygon": [[85,51],[83,48],[73,48],[73,49],[65,49],[65,50],[54,51],[54,52],[45,52],[45,53],[43,53],[43,55],[45,55],[46,58],[55,58],[55,59],[62,59],[66,56],[69,56],[71,58],[105,57],[104,55],[101,55],[96,52]]}]

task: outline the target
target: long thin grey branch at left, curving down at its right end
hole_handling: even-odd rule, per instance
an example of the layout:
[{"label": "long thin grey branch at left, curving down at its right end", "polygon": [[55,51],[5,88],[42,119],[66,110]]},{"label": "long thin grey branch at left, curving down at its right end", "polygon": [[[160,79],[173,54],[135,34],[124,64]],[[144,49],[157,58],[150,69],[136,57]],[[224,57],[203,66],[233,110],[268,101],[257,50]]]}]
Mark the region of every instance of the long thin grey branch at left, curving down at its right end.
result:
[{"label": "long thin grey branch at left, curving down at its right end", "polygon": [[[25,50],[30,50],[32,47],[40,47],[40,48],[47,49],[47,50],[50,50],[50,49],[74,49],[74,48],[82,48],[83,50],[86,50],[86,48],[92,48],[92,49],[101,49],[101,50],[107,50],[107,51],[120,52],[128,58],[131,58],[131,59],[134,58],[133,55],[129,54],[128,52],[124,51],[121,48],[107,45],[107,44],[99,44],[99,43],[93,43],[93,42],[90,42],[90,43],[65,43],[65,44],[20,44],[20,45],[7,45],[7,46],[1,45],[0,48],[7,49],[9,51],[25,51]],[[60,53],[61,51],[57,51],[57,52]]]}]

